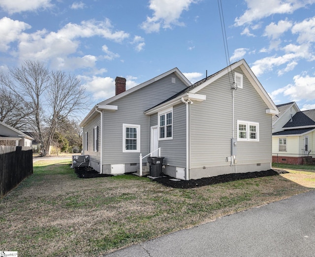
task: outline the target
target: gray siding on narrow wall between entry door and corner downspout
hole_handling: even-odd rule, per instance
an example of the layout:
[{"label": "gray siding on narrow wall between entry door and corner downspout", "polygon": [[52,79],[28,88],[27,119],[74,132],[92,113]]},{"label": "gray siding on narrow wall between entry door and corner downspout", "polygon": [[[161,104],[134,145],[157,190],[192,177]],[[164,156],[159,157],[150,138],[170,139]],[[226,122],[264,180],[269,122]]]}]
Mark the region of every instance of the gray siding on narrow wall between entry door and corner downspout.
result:
[{"label": "gray siding on narrow wall between entry door and corner downspout", "polygon": [[[158,118],[157,118],[158,124]],[[186,168],[186,105],[173,107],[173,139],[158,142],[163,164]]]}]

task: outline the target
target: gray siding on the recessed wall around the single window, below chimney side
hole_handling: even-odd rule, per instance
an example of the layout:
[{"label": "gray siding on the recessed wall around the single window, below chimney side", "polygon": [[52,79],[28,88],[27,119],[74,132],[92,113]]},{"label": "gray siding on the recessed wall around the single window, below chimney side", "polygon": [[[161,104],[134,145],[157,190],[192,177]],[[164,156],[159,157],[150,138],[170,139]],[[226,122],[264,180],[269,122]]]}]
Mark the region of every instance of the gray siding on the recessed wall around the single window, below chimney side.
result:
[{"label": "gray siding on the recessed wall around the single window, below chimney side", "polygon": [[[186,88],[179,79],[176,79],[176,84],[171,83],[174,76],[171,74],[110,103],[117,105],[118,110],[103,112],[104,165],[138,163],[140,152],[143,156],[150,152],[150,120],[144,111]],[[123,152],[124,123],[140,125],[140,152]]]}]

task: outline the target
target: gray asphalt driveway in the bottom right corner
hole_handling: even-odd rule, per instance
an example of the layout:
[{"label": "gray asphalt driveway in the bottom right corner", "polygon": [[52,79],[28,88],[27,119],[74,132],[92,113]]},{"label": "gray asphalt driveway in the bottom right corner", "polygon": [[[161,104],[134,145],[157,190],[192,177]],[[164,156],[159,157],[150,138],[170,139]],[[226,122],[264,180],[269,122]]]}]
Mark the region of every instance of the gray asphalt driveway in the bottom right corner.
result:
[{"label": "gray asphalt driveway in the bottom right corner", "polygon": [[315,191],[181,230],[107,257],[314,257]]}]

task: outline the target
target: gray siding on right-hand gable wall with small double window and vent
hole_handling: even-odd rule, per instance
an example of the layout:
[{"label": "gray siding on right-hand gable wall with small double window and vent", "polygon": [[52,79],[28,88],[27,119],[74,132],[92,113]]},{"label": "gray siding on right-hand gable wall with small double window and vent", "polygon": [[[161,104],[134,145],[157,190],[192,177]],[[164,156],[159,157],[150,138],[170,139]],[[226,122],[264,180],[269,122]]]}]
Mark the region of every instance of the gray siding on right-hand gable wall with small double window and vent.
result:
[{"label": "gray siding on right-hand gable wall with small double window and vent", "polygon": [[[235,70],[243,74],[240,68]],[[230,78],[231,79],[231,78]],[[231,155],[232,93],[228,75],[204,87],[207,95],[201,103],[190,106],[190,169],[229,166]],[[237,142],[237,165],[271,163],[271,115],[249,80],[243,74],[243,88],[235,91],[234,137],[237,120],[259,123],[259,142]]]}]

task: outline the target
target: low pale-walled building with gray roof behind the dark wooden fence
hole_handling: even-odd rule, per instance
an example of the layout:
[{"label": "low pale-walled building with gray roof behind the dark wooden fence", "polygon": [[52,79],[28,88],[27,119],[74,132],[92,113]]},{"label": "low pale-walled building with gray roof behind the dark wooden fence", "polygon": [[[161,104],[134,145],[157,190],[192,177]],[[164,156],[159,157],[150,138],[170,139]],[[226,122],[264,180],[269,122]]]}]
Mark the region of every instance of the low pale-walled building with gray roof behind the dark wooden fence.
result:
[{"label": "low pale-walled building with gray roof behind the dark wooden fence", "polygon": [[33,138],[0,121],[0,145],[32,146]]}]

